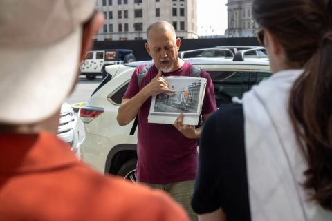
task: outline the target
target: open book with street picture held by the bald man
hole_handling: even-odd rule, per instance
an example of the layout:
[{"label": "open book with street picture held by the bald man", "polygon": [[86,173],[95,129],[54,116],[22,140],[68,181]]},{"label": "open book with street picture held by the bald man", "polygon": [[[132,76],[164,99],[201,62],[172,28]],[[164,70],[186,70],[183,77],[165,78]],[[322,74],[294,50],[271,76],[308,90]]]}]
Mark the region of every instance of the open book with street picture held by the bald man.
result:
[{"label": "open book with street picture held by the bald man", "polygon": [[197,125],[203,104],[206,79],[203,77],[164,77],[174,94],[152,97],[148,122],[173,124],[183,113],[183,124]]}]

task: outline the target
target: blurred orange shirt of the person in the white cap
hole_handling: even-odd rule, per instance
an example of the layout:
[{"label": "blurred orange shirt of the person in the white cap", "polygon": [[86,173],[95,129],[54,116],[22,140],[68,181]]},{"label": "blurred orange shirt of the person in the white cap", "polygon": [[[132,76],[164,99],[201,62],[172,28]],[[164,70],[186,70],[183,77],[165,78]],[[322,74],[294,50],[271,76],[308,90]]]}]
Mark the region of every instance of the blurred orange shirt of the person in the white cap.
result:
[{"label": "blurred orange shirt of the person in the white cap", "polygon": [[0,134],[0,220],[188,220],[168,195],[104,176],[56,135]]}]

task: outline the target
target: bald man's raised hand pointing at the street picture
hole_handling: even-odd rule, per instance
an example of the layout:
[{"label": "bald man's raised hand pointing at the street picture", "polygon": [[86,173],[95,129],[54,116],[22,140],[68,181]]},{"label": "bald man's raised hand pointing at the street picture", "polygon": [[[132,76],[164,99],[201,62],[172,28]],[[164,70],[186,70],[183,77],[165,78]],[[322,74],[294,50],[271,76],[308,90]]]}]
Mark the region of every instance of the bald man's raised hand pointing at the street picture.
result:
[{"label": "bald man's raised hand pointing at the street picture", "polygon": [[167,81],[161,77],[161,70],[158,70],[156,77],[142,90],[145,90],[149,96],[175,93],[175,90],[169,89]]}]

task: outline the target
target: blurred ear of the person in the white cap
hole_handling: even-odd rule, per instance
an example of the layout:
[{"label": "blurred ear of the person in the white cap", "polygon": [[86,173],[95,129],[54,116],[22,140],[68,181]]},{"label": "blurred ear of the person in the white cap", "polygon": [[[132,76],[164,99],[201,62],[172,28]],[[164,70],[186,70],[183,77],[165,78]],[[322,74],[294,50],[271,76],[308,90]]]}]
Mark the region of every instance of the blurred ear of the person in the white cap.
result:
[{"label": "blurred ear of the person in the white cap", "polygon": [[86,55],[86,52],[92,47],[92,39],[97,34],[98,30],[104,22],[104,15],[100,12],[97,12],[91,21],[84,24],[83,33],[82,33],[82,47],[80,60],[82,61]]}]

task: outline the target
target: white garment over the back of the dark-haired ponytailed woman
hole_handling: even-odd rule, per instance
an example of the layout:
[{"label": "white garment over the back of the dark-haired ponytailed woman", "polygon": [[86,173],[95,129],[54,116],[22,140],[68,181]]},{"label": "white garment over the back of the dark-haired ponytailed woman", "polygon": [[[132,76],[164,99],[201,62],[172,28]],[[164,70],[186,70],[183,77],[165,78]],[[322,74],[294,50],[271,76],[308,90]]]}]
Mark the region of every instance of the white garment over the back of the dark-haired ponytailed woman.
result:
[{"label": "white garment over the back of the dark-haired ponytailed woman", "polygon": [[308,201],[307,163],[297,144],[288,99],[303,70],[283,70],[243,95],[250,211],[253,221],[332,220]]}]

